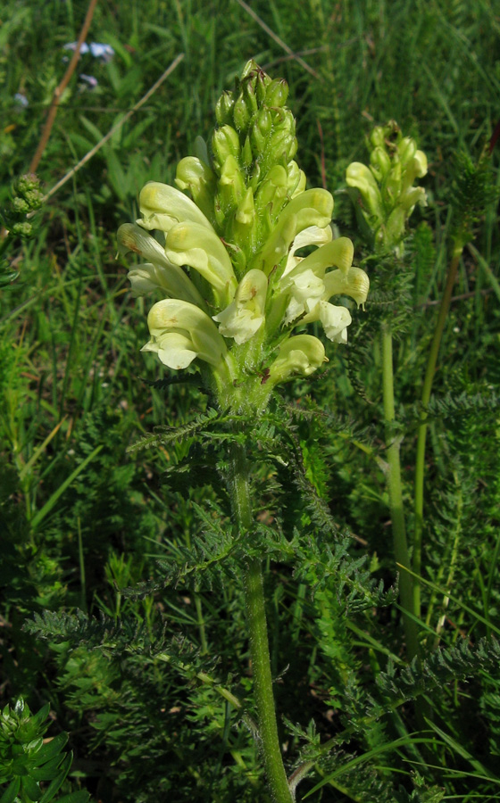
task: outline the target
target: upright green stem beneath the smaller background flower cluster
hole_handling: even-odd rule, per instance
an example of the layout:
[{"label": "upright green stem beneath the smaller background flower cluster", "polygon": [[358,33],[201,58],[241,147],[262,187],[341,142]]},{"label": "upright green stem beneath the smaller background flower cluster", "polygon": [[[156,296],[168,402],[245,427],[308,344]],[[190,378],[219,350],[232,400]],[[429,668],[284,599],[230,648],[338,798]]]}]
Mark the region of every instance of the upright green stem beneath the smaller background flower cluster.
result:
[{"label": "upright green stem beneath the smaller background flower cluster", "polygon": [[[396,563],[410,568],[406,527],[404,525],[403,490],[401,483],[401,461],[399,438],[394,436],[396,419],[394,406],[394,376],[392,358],[392,334],[387,321],[382,323],[382,385],[384,398],[384,421],[387,445],[387,490],[392,521]],[[404,636],[408,658],[419,655],[419,639],[416,622],[409,614],[413,613],[413,580],[407,572],[399,573],[399,594],[403,608]]]}]

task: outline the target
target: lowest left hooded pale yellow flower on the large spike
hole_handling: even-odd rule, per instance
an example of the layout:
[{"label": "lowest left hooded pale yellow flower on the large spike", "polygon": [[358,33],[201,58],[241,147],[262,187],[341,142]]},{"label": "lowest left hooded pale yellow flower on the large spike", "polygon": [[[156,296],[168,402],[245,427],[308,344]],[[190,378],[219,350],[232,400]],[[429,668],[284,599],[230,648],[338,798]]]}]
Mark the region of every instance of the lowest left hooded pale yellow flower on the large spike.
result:
[{"label": "lowest left hooded pale yellow flower on the large spike", "polygon": [[196,357],[220,365],[227,349],[217,327],[195,304],[177,298],[154,304],[147,316],[151,340],[142,352],[155,352],[169,368],[187,368]]}]

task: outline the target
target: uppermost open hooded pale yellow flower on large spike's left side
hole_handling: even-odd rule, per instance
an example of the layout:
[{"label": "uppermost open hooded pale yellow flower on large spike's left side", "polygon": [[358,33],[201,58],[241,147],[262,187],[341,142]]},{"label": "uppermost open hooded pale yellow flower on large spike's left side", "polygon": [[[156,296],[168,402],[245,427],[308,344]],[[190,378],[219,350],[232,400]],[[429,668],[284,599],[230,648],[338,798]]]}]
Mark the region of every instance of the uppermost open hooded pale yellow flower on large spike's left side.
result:
[{"label": "uppermost open hooded pale yellow flower on large spike's left side", "polygon": [[212,224],[198,209],[196,203],[187,195],[168,184],[150,181],[141,190],[139,195],[139,209],[142,218],[137,223],[142,228],[151,231],[154,228],[160,231],[170,231],[172,226],[182,220],[189,220],[213,231]]}]

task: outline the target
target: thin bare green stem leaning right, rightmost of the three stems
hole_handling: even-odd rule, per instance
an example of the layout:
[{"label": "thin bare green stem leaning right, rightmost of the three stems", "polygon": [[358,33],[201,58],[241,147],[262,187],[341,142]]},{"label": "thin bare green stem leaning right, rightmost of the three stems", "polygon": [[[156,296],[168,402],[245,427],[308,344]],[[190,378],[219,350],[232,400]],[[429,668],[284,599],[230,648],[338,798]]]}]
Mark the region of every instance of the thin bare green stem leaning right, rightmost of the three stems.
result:
[{"label": "thin bare green stem leaning right, rightmost of the three stems", "polygon": [[[429,358],[427,360],[427,368],[425,371],[425,378],[423,381],[422,394],[421,394],[421,425],[419,426],[418,439],[417,439],[417,457],[415,462],[415,534],[413,539],[413,565],[412,570],[415,575],[421,575],[421,551],[422,551],[422,532],[423,532],[423,484],[425,474],[425,442],[427,438],[427,406],[429,405],[430,393],[432,390],[432,382],[436,373],[437,356],[439,354],[439,347],[443,337],[443,331],[446,323],[446,316],[450,309],[452,292],[454,288],[454,281],[456,278],[456,271],[458,263],[462,255],[463,246],[456,244],[450,267],[448,269],[448,276],[446,277],[446,286],[441,299],[441,306],[439,307],[439,314],[437,316],[437,324],[430,345]],[[413,610],[415,616],[421,616],[421,584],[419,579],[415,579],[413,584]]]}]

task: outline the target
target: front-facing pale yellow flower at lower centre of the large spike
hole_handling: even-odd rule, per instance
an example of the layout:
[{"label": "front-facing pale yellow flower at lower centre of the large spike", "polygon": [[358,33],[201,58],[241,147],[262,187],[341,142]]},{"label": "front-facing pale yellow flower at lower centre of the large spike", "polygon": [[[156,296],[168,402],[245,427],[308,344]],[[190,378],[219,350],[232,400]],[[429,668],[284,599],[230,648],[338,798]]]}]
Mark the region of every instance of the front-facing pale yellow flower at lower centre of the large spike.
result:
[{"label": "front-facing pale yellow flower at lower centre of the large spike", "polygon": [[249,270],[242,278],[234,297],[213,320],[220,323],[219,332],[233,337],[237,344],[246,343],[262,327],[267,293],[267,277],[262,270]]}]

